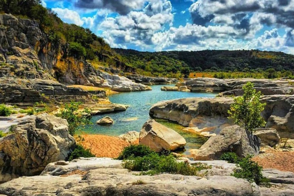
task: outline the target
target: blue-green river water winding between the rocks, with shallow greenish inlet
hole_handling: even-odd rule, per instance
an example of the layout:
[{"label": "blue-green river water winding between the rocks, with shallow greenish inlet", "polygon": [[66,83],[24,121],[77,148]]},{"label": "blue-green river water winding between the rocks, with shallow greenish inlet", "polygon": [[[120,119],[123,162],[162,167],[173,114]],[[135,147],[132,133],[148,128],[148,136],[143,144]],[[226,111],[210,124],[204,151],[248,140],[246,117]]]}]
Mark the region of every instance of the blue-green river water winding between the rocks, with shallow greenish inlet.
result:
[{"label": "blue-green river water winding between the rocks, with shallow greenish inlet", "polygon": [[[153,89],[152,91],[124,92],[109,96],[109,100],[111,102],[128,105],[129,108],[126,111],[93,116],[93,125],[87,126],[85,132],[118,136],[128,131],[140,131],[143,124],[150,118],[149,109],[154,103],[178,98],[213,98],[216,96],[216,93],[206,92],[189,93],[181,91],[161,91],[160,88],[162,86],[174,85],[154,85],[151,86]],[[110,116],[114,120],[114,124],[109,126],[96,125],[96,121],[106,115]],[[183,126],[178,125],[177,123],[168,122],[167,120],[159,121],[160,123],[173,128],[178,133],[180,133],[186,139],[188,148],[199,148],[201,143],[203,143],[203,138],[199,138],[198,135],[183,132],[181,130]]]}]

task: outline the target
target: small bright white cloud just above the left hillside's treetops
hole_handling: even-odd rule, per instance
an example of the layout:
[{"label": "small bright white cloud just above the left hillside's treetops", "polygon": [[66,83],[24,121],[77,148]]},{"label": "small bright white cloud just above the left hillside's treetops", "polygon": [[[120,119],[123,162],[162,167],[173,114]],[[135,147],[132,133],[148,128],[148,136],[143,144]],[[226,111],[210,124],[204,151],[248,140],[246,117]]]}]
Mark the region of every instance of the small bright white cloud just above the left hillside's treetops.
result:
[{"label": "small bright white cloud just above the left hillside's treetops", "polygon": [[84,21],[81,19],[78,12],[70,10],[70,9],[62,9],[62,8],[52,8],[54,11],[64,22],[69,24],[76,24],[82,26]]}]

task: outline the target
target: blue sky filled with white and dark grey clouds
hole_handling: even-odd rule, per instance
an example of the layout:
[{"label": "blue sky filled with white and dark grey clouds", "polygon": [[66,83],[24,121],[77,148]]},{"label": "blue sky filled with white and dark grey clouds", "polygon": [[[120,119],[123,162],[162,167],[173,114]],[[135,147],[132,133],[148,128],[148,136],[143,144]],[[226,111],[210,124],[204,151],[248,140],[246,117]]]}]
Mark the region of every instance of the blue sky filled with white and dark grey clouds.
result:
[{"label": "blue sky filled with white and dark grey clouds", "polygon": [[42,0],[113,48],[294,54],[294,0]]}]

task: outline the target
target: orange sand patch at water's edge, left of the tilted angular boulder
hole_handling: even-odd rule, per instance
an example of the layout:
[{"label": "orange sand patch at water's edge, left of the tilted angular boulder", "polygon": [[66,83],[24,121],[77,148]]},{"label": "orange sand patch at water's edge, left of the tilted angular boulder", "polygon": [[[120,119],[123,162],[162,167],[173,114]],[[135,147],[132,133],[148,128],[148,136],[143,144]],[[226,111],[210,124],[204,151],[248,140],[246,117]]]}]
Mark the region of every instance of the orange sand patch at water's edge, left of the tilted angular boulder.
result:
[{"label": "orange sand patch at water's edge, left of the tilted angular boulder", "polygon": [[[128,142],[114,136],[107,135],[81,135],[85,141],[83,146],[90,148],[96,157],[116,158],[123,148],[130,145]],[[138,143],[138,141],[136,142]]]}]

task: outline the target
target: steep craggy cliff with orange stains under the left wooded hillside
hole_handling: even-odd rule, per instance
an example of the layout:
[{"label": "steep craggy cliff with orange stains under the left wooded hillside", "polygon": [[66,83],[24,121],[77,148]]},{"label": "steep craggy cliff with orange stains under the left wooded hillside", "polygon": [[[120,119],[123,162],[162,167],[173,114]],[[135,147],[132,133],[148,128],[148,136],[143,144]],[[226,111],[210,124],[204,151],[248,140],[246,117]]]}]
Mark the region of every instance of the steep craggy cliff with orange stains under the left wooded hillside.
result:
[{"label": "steep craggy cliff with orange stains under the left wooded hillside", "polygon": [[9,14],[1,14],[0,18],[5,27],[0,34],[0,77],[56,78],[64,84],[103,86],[116,91],[150,90],[126,77],[99,71],[87,61],[66,57],[66,46],[51,43],[36,21]]}]

